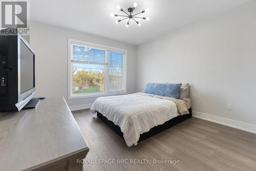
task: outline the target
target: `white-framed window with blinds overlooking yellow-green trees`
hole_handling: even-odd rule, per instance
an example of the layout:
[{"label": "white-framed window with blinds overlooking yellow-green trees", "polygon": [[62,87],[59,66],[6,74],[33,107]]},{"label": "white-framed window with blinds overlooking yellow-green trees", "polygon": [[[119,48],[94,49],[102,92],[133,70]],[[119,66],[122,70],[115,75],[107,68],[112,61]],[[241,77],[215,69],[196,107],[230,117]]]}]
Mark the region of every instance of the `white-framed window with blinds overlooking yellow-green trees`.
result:
[{"label": "white-framed window with blinds overlooking yellow-green trees", "polygon": [[69,39],[69,99],[126,93],[126,50]]}]

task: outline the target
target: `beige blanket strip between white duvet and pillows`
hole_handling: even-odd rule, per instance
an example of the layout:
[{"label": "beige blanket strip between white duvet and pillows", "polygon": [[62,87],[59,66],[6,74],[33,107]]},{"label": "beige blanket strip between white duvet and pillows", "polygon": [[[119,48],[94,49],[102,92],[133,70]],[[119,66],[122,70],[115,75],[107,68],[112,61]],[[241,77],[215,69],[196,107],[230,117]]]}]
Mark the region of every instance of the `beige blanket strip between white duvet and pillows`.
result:
[{"label": "beige blanket strip between white duvet and pillows", "polygon": [[142,95],[142,96],[149,96],[149,97],[155,97],[155,98],[160,98],[160,99],[173,101],[173,102],[175,102],[175,104],[177,106],[177,109],[178,109],[178,111],[181,115],[189,114],[185,103],[181,99],[176,99],[176,98],[172,98],[172,97],[165,97],[165,96],[158,96],[158,95],[147,94],[147,93],[136,93],[136,94]]}]

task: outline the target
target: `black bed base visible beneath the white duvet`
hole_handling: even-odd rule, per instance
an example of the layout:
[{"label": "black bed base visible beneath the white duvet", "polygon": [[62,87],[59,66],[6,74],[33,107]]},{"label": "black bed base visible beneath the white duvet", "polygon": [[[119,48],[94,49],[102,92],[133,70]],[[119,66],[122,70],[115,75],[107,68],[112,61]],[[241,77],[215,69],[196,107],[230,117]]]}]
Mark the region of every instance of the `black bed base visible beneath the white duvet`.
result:
[{"label": "black bed base visible beneath the white duvet", "polygon": [[[147,138],[150,138],[158,133],[161,133],[163,132],[164,130],[167,130],[169,129],[170,127],[174,126],[174,125],[177,125],[181,122],[183,122],[184,120],[187,120],[189,119],[191,116],[192,116],[192,110],[191,108],[188,109],[189,111],[189,114],[186,114],[186,115],[179,115],[173,119],[170,119],[166,122],[164,122],[163,124],[161,125],[158,125],[158,126],[155,126],[155,127],[152,127],[152,129],[150,129],[150,131],[146,132],[146,133],[143,133],[140,135],[140,139],[138,142],[144,140],[144,139],[147,139]],[[106,125],[108,125],[116,134],[118,134],[122,139],[123,138],[123,133],[121,132],[121,129],[118,125],[115,125],[114,122],[108,120],[108,118],[104,117],[101,113],[97,112],[97,117],[102,120]]]}]

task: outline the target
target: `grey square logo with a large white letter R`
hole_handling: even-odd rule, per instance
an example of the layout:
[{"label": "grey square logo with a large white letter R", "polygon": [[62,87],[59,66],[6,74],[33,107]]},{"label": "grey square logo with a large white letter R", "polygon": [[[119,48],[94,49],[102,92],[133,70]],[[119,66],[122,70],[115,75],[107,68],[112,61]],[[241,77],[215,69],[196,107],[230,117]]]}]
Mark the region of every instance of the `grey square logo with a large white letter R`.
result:
[{"label": "grey square logo with a large white letter R", "polygon": [[27,28],[27,1],[1,2],[2,28]]}]

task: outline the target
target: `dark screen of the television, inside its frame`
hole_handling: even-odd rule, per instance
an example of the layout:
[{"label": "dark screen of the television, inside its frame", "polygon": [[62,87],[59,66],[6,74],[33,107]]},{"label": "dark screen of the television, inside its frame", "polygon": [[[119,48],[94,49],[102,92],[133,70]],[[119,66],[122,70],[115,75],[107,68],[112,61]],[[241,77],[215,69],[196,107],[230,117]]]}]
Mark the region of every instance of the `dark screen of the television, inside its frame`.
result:
[{"label": "dark screen of the television, inside its frame", "polygon": [[34,88],[34,54],[20,40],[20,94]]}]

